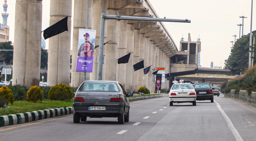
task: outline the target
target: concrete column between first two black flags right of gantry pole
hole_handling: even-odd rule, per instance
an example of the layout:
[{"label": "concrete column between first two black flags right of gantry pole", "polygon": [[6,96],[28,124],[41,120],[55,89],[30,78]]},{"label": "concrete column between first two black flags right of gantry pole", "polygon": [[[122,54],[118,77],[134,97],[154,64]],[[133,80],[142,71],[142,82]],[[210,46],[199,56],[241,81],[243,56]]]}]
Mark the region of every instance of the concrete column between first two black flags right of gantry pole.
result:
[{"label": "concrete column between first two black flags right of gantry pole", "polygon": [[126,54],[131,53],[129,62],[126,63],[125,73],[125,91],[132,92],[132,79],[133,79],[133,51],[134,51],[134,24],[127,24],[127,47]]}]

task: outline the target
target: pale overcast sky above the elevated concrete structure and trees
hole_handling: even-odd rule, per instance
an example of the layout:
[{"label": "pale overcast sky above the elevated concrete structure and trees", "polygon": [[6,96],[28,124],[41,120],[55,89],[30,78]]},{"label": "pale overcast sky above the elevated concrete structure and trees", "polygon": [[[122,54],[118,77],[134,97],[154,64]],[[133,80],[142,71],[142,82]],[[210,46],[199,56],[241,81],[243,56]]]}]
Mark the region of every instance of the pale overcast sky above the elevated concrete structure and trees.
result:
[{"label": "pale overcast sky above the elevated concrete structure and trees", "polygon": [[[74,2],[74,0],[73,0]],[[4,0],[0,0],[3,4]],[[191,23],[165,22],[167,30],[171,34],[175,44],[179,49],[180,38],[197,40],[200,35],[201,39],[201,65],[210,67],[213,61],[214,66],[224,66],[224,60],[230,54],[230,47],[235,41],[232,35],[239,37],[239,26],[244,19],[244,35],[250,33],[251,21],[251,0],[150,0],[156,13],[163,18],[191,20]],[[7,0],[9,13],[8,26],[10,26],[10,41],[14,42],[14,21],[15,21],[15,0]],[[43,0],[43,23],[42,30],[49,27],[50,0]],[[256,5],[253,4],[254,15],[252,21],[252,30],[256,30]],[[3,7],[0,7],[3,11]],[[2,18],[0,18],[2,23]],[[71,32],[72,33],[72,32]],[[242,35],[242,27],[241,27]],[[72,36],[71,36],[72,37]],[[71,40],[72,41],[72,40]],[[48,48],[48,40],[46,40]]]}]

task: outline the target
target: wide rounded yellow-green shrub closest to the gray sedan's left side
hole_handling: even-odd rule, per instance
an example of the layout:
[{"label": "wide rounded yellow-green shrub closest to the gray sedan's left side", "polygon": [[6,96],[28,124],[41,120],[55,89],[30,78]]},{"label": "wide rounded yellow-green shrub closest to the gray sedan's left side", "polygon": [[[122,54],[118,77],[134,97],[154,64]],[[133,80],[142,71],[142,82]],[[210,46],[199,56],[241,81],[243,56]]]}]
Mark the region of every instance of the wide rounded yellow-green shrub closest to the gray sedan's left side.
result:
[{"label": "wide rounded yellow-green shrub closest to the gray sedan's left side", "polygon": [[48,92],[48,97],[51,100],[71,100],[73,98],[73,91],[71,88],[65,84],[56,84],[55,86],[52,86],[52,88]]}]

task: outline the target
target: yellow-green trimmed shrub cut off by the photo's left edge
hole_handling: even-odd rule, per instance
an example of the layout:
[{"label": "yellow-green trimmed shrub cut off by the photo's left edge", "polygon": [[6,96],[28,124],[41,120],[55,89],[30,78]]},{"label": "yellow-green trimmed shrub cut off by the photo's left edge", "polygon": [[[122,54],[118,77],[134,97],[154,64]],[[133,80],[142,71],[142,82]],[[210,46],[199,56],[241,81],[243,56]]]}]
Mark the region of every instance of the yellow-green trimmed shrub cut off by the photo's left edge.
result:
[{"label": "yellow-green trimmed shrub cut off by the photo's left edge", "polygon": [[7,86],[2,86],[0,88],[0,107],[8,107],[8,104],[13,104],[14,96]]}]

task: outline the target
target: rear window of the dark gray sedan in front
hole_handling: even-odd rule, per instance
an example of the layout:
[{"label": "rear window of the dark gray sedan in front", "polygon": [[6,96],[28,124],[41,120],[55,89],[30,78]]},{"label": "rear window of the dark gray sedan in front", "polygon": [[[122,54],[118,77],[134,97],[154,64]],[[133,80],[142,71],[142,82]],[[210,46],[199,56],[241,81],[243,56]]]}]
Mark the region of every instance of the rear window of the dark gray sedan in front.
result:
[{"label": "rear window of the dark gray sedan in front", "polygon": [[115,82],[84,82],[78,91],[114,91],[119,92]]}]

